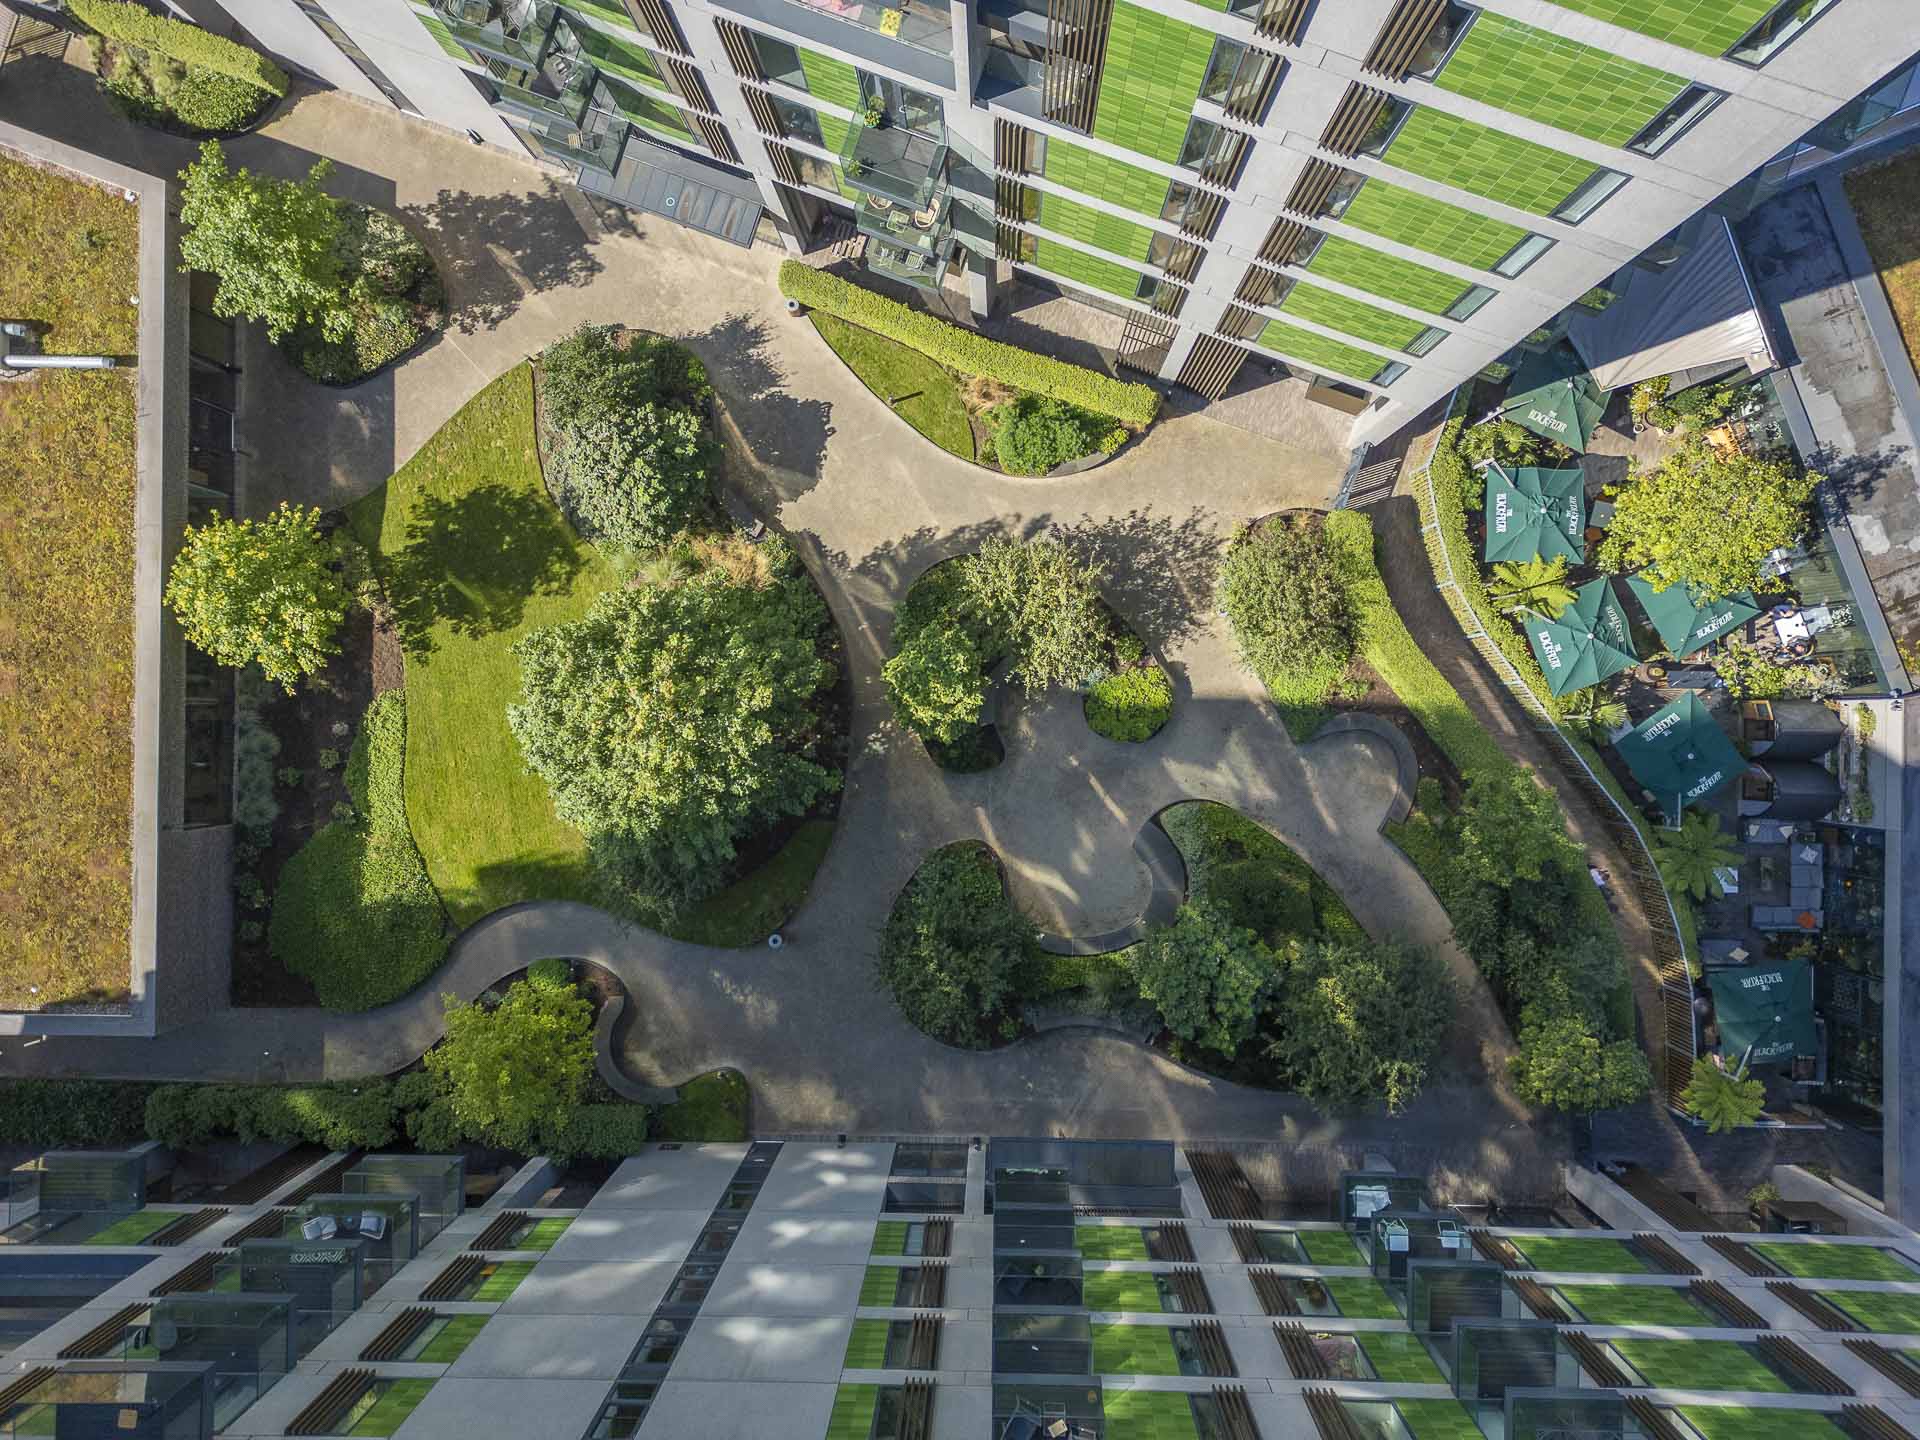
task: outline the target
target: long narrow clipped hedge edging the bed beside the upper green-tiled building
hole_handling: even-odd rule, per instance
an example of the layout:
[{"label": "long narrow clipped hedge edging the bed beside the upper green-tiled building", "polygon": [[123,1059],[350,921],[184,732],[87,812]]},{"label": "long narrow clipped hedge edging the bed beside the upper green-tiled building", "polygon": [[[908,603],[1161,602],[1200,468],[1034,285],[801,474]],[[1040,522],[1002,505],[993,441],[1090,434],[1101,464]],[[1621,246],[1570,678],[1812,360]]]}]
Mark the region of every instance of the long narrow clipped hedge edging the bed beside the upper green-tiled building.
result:
[{"label": "long narrow clipped hedge edging the bed beside the upper green-tiled building", "polygon": [[1137,430],[1144,430],[1160,413],[1160,392],[1152,386],[1116,380],[1081,365],[989,340],[797,259],[780,267],[780,292],[803,305],[837,315],[849,324],[899,340],[962,374],[983,374],[1016,390],[1064,399],[1112,415]]}]

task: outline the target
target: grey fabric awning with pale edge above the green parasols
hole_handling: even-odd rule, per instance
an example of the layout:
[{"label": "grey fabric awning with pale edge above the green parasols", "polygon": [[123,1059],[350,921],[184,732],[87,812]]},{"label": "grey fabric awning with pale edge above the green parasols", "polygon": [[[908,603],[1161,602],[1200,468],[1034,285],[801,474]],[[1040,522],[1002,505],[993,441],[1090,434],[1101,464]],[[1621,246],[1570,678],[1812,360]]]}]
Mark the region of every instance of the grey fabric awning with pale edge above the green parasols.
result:
[{"label": "grey fabric awning with pale edge above the green parasols", "polygon": [[1734,361],[1753,374],[1778,365],[1740,246],[1722,215],[1707,215],[1693,246],[1667,269],[1628,265],[1613,292],[1607,309],[1567,324],[1567,338],[1601,388],[1724,369]]}]

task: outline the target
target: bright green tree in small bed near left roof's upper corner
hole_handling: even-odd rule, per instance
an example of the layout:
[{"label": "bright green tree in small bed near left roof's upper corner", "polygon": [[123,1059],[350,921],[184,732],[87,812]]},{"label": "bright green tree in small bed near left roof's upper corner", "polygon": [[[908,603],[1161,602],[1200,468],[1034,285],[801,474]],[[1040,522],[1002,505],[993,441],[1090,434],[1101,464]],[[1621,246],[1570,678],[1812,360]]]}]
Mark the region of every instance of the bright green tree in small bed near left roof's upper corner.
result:
[{"label": "bright green tree in small bed near left roof's upper corner", "polygon": [[351,276],[338,253],[340,207],[321,188],[332,163],[319,159],[305,180],[275,180],[227,169],[219,140],[180,171],[180,269],[219,276],[217,315],[244,315],[278,340],[315,324],[328,340],[353,332]]}]

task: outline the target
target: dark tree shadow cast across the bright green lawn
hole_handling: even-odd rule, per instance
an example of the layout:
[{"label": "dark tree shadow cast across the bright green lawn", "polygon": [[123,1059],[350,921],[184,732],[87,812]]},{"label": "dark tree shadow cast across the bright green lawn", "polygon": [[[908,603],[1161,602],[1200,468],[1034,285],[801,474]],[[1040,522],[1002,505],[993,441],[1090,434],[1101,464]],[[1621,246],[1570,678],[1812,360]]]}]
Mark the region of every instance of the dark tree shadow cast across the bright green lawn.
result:
[{"label": "dark tree shadow cast across the bright green lawn", "polygon": [[394,628],[409,655],[430,655],[440,624],[468,639],[513,630],[528,599],[564,593],[582,564],[540,495],[497,482],[453,499],[424,495],[407,543],[384,564]]}]

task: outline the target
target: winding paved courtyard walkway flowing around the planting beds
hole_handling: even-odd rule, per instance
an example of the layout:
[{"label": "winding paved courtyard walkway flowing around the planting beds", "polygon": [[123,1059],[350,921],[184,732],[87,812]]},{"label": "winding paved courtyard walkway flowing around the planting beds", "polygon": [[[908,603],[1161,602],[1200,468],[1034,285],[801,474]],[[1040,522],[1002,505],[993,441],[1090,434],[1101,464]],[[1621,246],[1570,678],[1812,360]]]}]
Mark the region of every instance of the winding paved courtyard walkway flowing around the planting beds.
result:
[{"label": "winding paved courtyard walkway flowing around the planting beds", "polygon": [[[42,129],[169,167],[186,148],[136,131],[54,73],[25,102]],[[54,102],[50,92],[58,92]],[[19,119],[19,88],[0,117]],[[1296,747],[1231,655],[1212,612],[1223,536],[1250,515],[1321,505],[1344,457],[1292,449],[1179,415],[1127,457],[1066,482],[966,467],[920,442],[860,386],[812,326],[780,309],[778,255],[666,221],[599,213],[497,152],[340,96],[305,94],[234,159],[280,175],[315,154],[340,194],[417,223],[449,280],[455,324],[390,376],[349,392],[300,380],[273,351],[248,371],[255,497],[340,505],[405,461],[486,380],[584,319],[684,336],[712,367],[737,438],[730,484],[791,532],[847,637],[852,758],[841,824],[789,947],[676,945],[578,904],[490,916],[434,983],[369,1016],[221,1012],[148,1043],[48,1043],[8,1069],[56,1073],[361,1075],[405,1064],[440,1031],[440,993],[468,998],[538,956],[593,960],[626,983],[628,1068],[672,1083],[714,1066],[755,1081],[764,1131],[1075,1133],[1407,1142],[1432,1164],[1501,1173],[1561,1152],[1501,1083],[1509,1039],[1484,983],[1407,860],[1379,833],[1394,797],[1382,741],[1344,733]],[[891,722],[877,668],[891,609],[933,561],[991,534],[1069,526],[1110,578],[1110,599],[1177,685],[1173,722],[1125,747],[1085,730],[1077,699],[1002,716],[1008,762],[945,776]],[[874,935],[920,858],[962,837],[995,845],[1025,910],[1048,929],[1133,920],[1148,872],[1139,829],[1165,804],[1217,799],[1298,849],[1375,935],[1440,950],[1467,987],[1434,1087],[1405,1121],[1327,1119],[1304,1102],[1190,1073],[1117,1035],[1054,1031],[991,1054],[908,1027],[870,983]],[[1492,1083],[1490,1083],[1492,1081]],[[1509,1169],[1513,1167],[1513,1169]],[[1540,1171],[1544,1173],[1544,1171]]]}]

